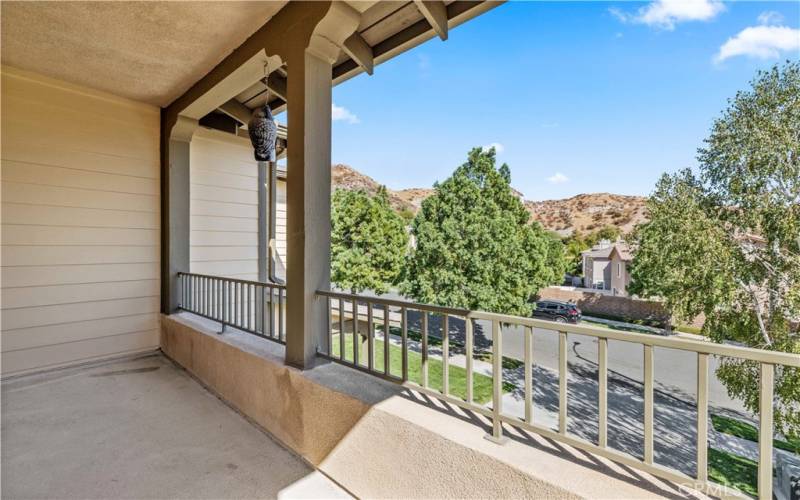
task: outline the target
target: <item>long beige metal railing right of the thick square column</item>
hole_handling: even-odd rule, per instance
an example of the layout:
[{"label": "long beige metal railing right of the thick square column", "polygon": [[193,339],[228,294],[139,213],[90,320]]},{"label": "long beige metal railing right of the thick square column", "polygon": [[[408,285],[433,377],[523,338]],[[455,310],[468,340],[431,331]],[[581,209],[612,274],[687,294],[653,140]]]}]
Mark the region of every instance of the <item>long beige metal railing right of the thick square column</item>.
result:
[{"label": "long beige metal railing right of the thick square column", "polygon": [[[728,344],[690,340],[685,338],[664,337],[629,333],[624,331],[584,326],[568,323],[554,323],[551,321],[510,316],[505,314],[487,313],[482,311],[468,311],[448,307],[438,307],[418,304],[403,300],[386,299],[333,291],[318,291],[317,296],[327,301],[328,307],[328,345],[330,352],[320,353],[321,356],[333,361],[346,364],[358,370],[368,372],[378,377],[401,383],[415,391],[439,398],[454,405],[467,408],[475,413],[484,415],[492,422],[491,436],[493,441],[503,441],[503,424],[512,425],[537,433],[546,438],[559,441],[576,448],[589,451],[596,455],[608,458],[621,464],[638,468],[654,476],[690,486],[694,489],[705,491],[714,495],[740,496],[741,493],[709,480],[708,469],[708,386],[709,386],[709,355],[725,356],[740,360],[749,360],[760,366],[760,415],[759,415],[759,461],[758,461],[758,492],[759,498],[772,499],[772,440],[773,440],[773,397],[774,377],[776,366],[800,367],[800,356],[795,354],[751,349]],[[376,319],[376,310],[380,311]],[[409,379],[409,312],[414,311],[421,315],[418,331],[413,332],[415,349],[421,357],[419,361],[420,372],[417,380]],[[440,335],[435,338],[440,345],[434,351],[437,361],[441,364],[442,380],[432,386],[430,379],[431,368],[431,340],[429,332],[429,316],[440,316]],[[461,395],[454,395],[449,387],[450,356],[450,329],[448,322],[451,318],[461,318],[464,323],[464,364],[465,391]],[[474,393],[474,358],[475,335],[474,325],[482,321],[491,325],[491,358],[492,358],[492,397],[491,406],[479,404],[475,401]],[[351,323],[350,334],[346,323]],[[377,324],[377,329],[376,329]],[[519,326],[524,329],[524,417],[504,413],[502,407],[503,394],[503,329],[508,326]],[[392,333],[394,328],[395,333]],[[533,420],[533,329],[541,328],[558,335],[558,430],[543,426]],[[334,334],[334,330],[338,333]],[[376,331],[380,330],[380,331]],[[598,439],[592,442],[567,431],[567,393],[568,393],[568,365],[567,365],[567,339],[570,334],[587,335],[594,337],[598,342]],[[338,335],[338,338],[335,338]],[[392,338],[394,336],[394,339]],[[350,339],[352,345],[346,342]],[[610,448],[608,445],[608,341],[624,341],[640,344],[642,346],[643,364],[643,448],[642,458]],[[375,346],[383,344],[383,353],[376,353]],[[391,345],[395,350],[399,347],[400,359],[393,359],[390,353]],[[697,468],[694,476],[687,475],[679,470],[654,462],[654,348],[669,348],[688,351],[697,355],[697,429],[696,457]],[[366,349],[366,359],[364,356]],[[397,354],[397,353],[395,353]],[[396,358],[397,356],[394,356]],[[398,364],[400,366],[394,366]],[[394,364],[394,365],[393,365]],[[500,376],[496,376],[500,374]]]}]

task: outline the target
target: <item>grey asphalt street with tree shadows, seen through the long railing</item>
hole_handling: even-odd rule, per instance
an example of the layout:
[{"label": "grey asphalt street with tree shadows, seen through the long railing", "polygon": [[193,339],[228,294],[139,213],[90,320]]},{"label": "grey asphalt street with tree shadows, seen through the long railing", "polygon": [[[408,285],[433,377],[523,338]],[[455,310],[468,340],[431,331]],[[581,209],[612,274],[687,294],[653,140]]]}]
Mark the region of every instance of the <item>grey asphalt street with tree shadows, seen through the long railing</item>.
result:
[{"label": "grey asphalt street with tree shadows, seen through the long railing", "polygon": [[[346,311],[349,312],[349,306]],[[366,308],[360,311],[365,318]],[[383,310],[374,309],[375,324],[383,323]],[[392,310],[391,321],[399,326],[399,312]],[[365,323],[361,320],[360,328]],[[420,331],[422,316],[418,311],[408,312],[409,329]],[[555,324],[554,324],[555,326]],[[351,328],[351,327],[348,327]],[[465,341],[464,320],[451,317],[449,320],[451,339],[450,362],[464,366]],[[428,332],[431,337],[441,338],[441,318],[429,316]],[[476,321],[474,326],[475,351],[491,352],[491,324]],[[381,333],[377,333],[381,336]],[[647,335],[643,333],[642,335]],[[399,344],[399,337],[392,341]],[[409,341],[411,350],[420,351],[417,341]],[[432,358],[441,357],[438,346],[430,346]],[[523,328],[503,329],[503,355],[522,360],[524,358]],[[491,364],[476,356],[476,373],[491,376]],[[687,474],[696,468],[696,366],[697,356],[691,352],[655,348],[655,460]],[[558,332],[537,328],[533,344],[533,419],[539,425],[552,429],[558,427]],[[568,336],[568,429],[571,434],[592,442],[597,440],[597,339],[585,335]],[[747,412],[741,403],[728,397],[725,387],[714,375],[719,360],[709,359],[709,405],[712,413],[719,413],[750,421],[757,419]],[[643,454],[644,404],[642,397],[643,348],[641,344],[609,341],[608,348],[608,440],[609,446],[634,456]],[[517,389],[503,397],[503,413],[522,418],[524,416],[524,367],[506,367],[503,380]],[[489,403],[487,406],[491,406]],[[752,456],[754,443],[731,439],[714,431],[709,422],[709,444],[743,456]],[[776,454],[779,451],[776,450]]]}]

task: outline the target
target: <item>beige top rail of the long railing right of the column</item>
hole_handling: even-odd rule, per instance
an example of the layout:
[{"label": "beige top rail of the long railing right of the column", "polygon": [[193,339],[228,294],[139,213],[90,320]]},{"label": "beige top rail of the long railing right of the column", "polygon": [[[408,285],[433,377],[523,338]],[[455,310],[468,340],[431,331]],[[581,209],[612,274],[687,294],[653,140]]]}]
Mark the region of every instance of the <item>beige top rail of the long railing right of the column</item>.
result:
[{"label": "beige top rail of the long railing right of the column", "polygon": [[800,368],[800,354],[778,351],[768,351],[765,349],[755,349],[752,347],[740,347],[730,344],[717,344],[711,341],[694,340],[687,338],[665,337],[645,333],[631,333],[619,330],[610,330],[597,326],[574,325],[570,323],[554,323],[534,318],[522,316],[512,316],[507,314],[490,313],[485,311],[469,311],[466,309],[456,309],[450,307],[431,306],[428,304],[418,304],[399,299],[385,299],[368,295],[358,295],[350,293],[340,293],[327,290],[320,290],[318,295],[324,297],[342,298],[346,300],[359,300],[372,302],[373,304],[383,304],[394,307],[405,307],[420,311],[430,311],[453,316],[487,321],[499,321],[518,326],[530,326],[543,330],[562,331],[591,337],[604,338],[610,340],[620,340],[623,342],[633,342],[637,344],[664,347],[668,349],[678,349],[703,354],[713,354],[718,356],[729,356],[733,358],[746,359],[761,363],[780,364]]}]

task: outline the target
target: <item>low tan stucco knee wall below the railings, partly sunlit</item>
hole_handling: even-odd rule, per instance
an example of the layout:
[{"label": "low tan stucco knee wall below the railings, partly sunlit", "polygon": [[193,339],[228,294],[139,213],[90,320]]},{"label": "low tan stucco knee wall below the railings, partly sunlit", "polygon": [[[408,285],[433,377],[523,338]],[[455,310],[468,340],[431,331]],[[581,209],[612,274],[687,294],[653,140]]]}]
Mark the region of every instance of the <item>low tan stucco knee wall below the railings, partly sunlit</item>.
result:
[{"label": "low tan stucco knee wall below the railings, partly sunlit", "polygon": [[161,324],[167,356],[358,497],[576,497],[399,416],[397,405],[420,418],[432,410],[398,396],[394,384],[334,364],[300,371],[283,364],[279,346],[185,318]]}]

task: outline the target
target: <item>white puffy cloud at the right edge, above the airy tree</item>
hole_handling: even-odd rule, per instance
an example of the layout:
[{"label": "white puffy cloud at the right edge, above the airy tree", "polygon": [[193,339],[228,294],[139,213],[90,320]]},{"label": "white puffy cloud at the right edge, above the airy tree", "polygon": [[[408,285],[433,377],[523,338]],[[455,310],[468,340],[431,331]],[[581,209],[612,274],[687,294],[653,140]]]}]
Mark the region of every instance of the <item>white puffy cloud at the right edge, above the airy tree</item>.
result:
[{"label": "white puffy cloud at the right edge, above the airy tree", "polygon": [[781,52],[800,52],[800,29],[750,26],[723,43],[714,60],[722,62],[736,56],[776,59]]}]

